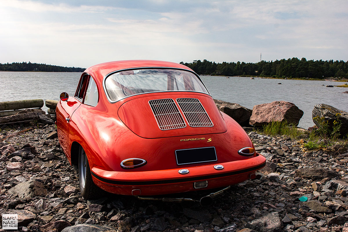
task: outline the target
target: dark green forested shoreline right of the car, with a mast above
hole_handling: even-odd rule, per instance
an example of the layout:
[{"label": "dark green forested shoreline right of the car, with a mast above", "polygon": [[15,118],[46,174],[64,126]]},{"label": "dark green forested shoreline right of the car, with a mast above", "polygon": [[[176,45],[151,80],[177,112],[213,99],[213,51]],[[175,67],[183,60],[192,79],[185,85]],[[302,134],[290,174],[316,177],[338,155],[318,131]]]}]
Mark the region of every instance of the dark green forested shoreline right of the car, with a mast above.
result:
[{"label": "dark green forested shoreline right of the car, with a mast above", "polygon": [[306,58],[281,59],[280,61],[260,61],[258,63],[222,62],[200,60],[183,63],[199,75],[243,76],[258,75],[276,78],[348,78],[348,63],[344,61],[307,61]]}]

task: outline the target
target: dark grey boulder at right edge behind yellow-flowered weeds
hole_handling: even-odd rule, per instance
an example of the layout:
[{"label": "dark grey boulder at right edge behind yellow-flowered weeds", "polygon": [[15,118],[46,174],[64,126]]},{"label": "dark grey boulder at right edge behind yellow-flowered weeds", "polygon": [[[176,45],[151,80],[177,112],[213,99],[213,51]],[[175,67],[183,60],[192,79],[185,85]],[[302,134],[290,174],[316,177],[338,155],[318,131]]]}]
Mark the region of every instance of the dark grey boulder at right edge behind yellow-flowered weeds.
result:
[{"label": "dark grey boulder at right edge behind yellow-flowered weeds", "polygon": [[348,133],[348,112],[336,109],[331,105],[318,104],[314,106],[312,111],[312,118],[315,125],[320,127],[320,121],[318,118],[323,118],[328,122],[330,128],[333,127],[333,122],[339,119],[341,123],[340,135],[345,136]]}]

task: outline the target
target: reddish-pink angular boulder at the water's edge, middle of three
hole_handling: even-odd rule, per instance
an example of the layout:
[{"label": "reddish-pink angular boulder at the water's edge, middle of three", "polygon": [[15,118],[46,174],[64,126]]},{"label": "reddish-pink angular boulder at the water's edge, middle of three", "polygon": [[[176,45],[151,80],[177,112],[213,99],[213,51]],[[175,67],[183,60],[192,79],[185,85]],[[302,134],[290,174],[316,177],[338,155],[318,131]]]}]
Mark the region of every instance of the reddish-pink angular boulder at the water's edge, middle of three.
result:
[{"label": "reddish-pink angular boulder at the water's edge, middle of three", "polygon": [[275,101],[255,105],[249,123],[254,126],[262,126],[270,122],[287,121],[289,124],[293,123],[297,126],[302,115],[303,111],[295,104],[285,101]]}]

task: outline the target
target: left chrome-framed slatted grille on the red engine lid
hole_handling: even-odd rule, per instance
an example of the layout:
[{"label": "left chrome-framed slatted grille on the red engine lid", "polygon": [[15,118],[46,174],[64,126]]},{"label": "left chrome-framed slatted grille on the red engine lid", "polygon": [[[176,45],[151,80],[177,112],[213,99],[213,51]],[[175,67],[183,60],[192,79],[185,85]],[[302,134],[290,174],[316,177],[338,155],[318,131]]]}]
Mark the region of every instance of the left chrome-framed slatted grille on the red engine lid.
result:
[{"label": "left chrome-framed slatted grille on the red engine lid", "polygon": [[186,123],[172,98],[149,101],[157,125],[161,130],[186,127]]}]

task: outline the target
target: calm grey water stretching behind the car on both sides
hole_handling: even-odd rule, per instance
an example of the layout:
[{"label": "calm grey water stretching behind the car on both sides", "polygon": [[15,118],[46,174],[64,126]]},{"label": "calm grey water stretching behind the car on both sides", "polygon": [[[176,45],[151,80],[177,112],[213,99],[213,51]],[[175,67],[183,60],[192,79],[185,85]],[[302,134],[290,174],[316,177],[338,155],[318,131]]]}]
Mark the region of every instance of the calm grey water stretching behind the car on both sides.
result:
[{"label": "calm grey water stretching behind the car on both sides", "polygon": [[[80,75],[81,73],[65,72],[0,72],[0,101],[36,98],[58,100],[62,92],[74,95]],[[213,98],[238,103],[249,109],[254,105],[273,101],[292,102],[304,112],[299,124],[303,128],[314,125],[312,110],[316,104],[325,103],[348,111],[348,94],[342,93],[347,88],[325,87],[340,85],[342,82],[211,76],[201,78]]]}]

